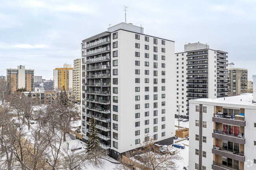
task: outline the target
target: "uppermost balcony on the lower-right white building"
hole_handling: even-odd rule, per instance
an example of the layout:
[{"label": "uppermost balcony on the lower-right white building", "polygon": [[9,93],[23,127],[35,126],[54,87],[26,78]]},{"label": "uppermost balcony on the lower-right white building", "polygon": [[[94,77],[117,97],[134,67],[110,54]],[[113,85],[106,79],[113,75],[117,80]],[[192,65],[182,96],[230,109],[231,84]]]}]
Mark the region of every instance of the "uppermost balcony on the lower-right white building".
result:
[{"label": "uppermost balcony on the lower-right white building", "polygon": [[212,121],[217,123],[231,124],[234,126],[245,127],[246,125],[244,116],[240,116],[240,115],[228,116],[228,115],[223,115],[223,113],[221,112],[213,114]]}]

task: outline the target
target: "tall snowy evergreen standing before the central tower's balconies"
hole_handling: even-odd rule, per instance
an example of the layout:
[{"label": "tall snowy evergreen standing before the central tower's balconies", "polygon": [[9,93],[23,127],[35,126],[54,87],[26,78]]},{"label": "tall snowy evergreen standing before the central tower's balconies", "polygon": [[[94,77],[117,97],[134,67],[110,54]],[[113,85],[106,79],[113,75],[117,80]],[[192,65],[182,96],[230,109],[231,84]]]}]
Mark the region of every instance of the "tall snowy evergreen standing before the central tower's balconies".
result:
[{"label": "tall snowy evergreen standing before the central tower's balconies", "polygon": [[87,154],[94,154],[96,150],[100,148],[98,130],[96,129],[96,124],[94,123],[93,117],[91,117],[91,124],[89,126],[90,134],[87,141]]}]

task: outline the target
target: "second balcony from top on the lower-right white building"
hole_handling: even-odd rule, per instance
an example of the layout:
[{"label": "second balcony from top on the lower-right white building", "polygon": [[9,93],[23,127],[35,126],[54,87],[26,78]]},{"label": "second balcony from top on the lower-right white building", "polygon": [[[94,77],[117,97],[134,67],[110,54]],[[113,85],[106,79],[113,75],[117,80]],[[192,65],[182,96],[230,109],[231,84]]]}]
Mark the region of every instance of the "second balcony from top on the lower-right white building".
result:
[{"label": "second balcony from top on the lower-right white building", "polygon": [[245,136],[242,133],[228,133],[220,130],[213,130],[211,134],[213,138],[221,139],[225,141],[235,142],[239,144],[245,144]]}]

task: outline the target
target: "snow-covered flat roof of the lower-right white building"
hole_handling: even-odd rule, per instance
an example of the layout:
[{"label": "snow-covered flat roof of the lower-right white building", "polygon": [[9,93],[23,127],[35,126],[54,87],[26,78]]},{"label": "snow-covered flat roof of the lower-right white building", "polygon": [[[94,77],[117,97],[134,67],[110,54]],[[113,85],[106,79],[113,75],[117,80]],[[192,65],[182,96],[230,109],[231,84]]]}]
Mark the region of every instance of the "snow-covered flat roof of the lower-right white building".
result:
[{"label": "snow-covered flat roof of the lower-right white building", "polygon": [[194,100],[189,100],[189,103],[211,102],[211,103],[219,103],[219,104],[239,104],[239,105],[248,105],[248,106],[256,107],[256,103],[252,103],[252,99],[253,99],[252,93],[244,93],[238,96],[220,97],[217,99],[194,99]]}]

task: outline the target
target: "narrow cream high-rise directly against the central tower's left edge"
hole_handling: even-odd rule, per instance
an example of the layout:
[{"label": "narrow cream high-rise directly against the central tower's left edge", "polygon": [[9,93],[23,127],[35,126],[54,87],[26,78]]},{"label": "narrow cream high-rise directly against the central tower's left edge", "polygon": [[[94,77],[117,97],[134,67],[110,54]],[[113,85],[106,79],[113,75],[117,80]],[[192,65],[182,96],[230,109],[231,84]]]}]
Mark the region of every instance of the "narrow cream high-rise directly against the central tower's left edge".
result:
[{"label": "narrow cream high-rise directly against the central tower's left edge", "polygon": [[81,101],[81,58],[74,59],[73,67],[73,95],[75,102]]}]

